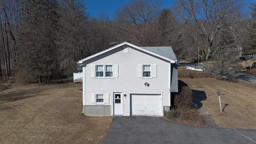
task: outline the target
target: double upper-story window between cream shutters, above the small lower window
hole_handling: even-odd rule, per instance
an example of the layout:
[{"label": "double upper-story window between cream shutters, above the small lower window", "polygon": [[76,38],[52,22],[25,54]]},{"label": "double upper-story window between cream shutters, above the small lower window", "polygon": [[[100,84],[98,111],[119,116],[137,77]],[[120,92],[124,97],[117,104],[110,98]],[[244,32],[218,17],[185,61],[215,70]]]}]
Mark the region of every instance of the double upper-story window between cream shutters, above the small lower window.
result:
[{"label": "double upper-story window between cream shutters, above the small lower window", "polygon": [[113,65],[96,65],[96,78],[112,78]]}]

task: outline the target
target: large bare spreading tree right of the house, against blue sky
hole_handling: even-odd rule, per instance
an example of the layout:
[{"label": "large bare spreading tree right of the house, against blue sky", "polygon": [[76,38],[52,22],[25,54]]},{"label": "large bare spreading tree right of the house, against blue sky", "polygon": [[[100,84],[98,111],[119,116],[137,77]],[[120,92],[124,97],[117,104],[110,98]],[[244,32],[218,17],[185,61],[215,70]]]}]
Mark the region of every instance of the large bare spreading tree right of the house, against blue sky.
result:
[{"label": "large bare spreading tree right of the house, against blue sky", "polygon": [[[177,0],[175,11],[178,19],[186,24],[190,50],[200,49],[203,70],[220,48],[216,36],[226,28],[241,27],[243,18],[242,0]],[[235,32],[235,31],[234,31]]]}]

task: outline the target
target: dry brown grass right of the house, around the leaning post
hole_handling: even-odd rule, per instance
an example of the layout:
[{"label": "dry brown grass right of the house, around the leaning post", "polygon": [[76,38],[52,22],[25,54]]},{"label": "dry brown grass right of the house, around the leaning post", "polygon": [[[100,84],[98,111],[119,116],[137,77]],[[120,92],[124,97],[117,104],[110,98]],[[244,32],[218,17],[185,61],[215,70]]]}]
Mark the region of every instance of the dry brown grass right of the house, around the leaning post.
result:
[{"label": "dry brown grass right of the house, around the leaning post", "polygon": [[[207,99],[202,101],[215,124],[220,128],[256,129],[256,92],[255,88],[243,84],[216,80],[215,78],[179,78],[192,90],[206,93]],[[216,91],[221,92],[222,109]]]}]

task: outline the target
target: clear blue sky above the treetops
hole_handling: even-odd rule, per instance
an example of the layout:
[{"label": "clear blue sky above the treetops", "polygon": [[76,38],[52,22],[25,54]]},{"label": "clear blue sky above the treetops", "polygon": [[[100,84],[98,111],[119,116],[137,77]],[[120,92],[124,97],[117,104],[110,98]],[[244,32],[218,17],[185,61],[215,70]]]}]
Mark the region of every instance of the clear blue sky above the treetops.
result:
[{"label": "clear blue sky above the treetops", "polygon": [[[120,6],[130,2],[132,0],[84,0],[86,4],[86,12],[90,13],[90,16],[94,18],[99,18],[101,13],[106,13],[109,18],[112,16]],[[159,0],[162,2],[162,8],[170,8],[175,0]],[[245,0],[247,4],[251,2],[256,2],[256,0]]]}]

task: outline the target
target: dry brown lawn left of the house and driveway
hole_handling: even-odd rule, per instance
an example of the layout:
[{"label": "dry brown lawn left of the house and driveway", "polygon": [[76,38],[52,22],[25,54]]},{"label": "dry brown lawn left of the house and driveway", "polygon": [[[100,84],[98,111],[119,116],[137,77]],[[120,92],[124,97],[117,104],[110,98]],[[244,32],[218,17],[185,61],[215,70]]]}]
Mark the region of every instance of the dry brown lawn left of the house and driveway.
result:
[{"label": "dry brown lawn left of the house and driveway", "polygon": [[100,144],[112,117],[87,117],[81,112],[82,91],[76,91],[74,83],[3,90],[0,142]]}]

